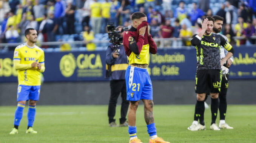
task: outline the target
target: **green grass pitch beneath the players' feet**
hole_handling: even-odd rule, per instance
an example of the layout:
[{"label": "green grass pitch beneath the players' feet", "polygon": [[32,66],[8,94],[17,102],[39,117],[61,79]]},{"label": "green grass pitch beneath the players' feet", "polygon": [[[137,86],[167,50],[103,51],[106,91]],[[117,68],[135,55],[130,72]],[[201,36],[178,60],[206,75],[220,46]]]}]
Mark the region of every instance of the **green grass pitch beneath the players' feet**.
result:
[{"label": "green grass pitch beneath the players' feet", "polygon": [[[9,135],[15,106],[0,106],[0,143],[128,143],[128,127],[108,127],[107,105],[37,106],[33,128],[26,134],[25,107],[19,134]],[[256,105],[228,105],[226,122],[234,129],[210,130],[210,109],[205,110],[205,131],[188,131],[194,105],[154,105],[157,135],[171,143],[255,143]],[[136,114],[137,136],[148,143],[148,133],[140,103]],[[116,110],[119,124],[120,105]],[[216,123],[219,123],[219,115]]]}]

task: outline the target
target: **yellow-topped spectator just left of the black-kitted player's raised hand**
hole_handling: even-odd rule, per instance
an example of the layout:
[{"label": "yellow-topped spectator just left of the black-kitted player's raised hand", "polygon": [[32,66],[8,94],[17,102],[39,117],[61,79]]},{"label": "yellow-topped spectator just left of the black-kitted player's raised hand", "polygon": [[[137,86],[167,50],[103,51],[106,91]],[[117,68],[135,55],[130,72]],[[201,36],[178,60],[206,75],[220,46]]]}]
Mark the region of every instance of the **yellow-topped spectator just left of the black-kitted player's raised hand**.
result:
[{"label": "yellow-topped spectator just left of the black-kitted player's raised hand", "polygon": [[192,37],[192,30],[187,28],[186,24],[183,24],[181,26],[181,29],[180,29],[179,38],[182,38],[182,41],[183,41],[185,46],[190,46],[191,45],[190,39],[188,39],[188,38],[191,38],[191,37]]}]

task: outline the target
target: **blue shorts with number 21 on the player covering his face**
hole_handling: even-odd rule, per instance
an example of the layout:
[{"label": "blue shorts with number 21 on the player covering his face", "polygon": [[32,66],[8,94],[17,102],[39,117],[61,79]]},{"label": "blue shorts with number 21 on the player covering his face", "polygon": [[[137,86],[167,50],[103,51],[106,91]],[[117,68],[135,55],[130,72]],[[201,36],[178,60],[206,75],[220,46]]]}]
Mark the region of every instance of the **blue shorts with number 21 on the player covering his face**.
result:
[{"label": "blue shorts with number 21 on the player covering his face", "polygon": [[153,100],[153,89],[147,69],[128,66],[125,72],[127,100]]}]

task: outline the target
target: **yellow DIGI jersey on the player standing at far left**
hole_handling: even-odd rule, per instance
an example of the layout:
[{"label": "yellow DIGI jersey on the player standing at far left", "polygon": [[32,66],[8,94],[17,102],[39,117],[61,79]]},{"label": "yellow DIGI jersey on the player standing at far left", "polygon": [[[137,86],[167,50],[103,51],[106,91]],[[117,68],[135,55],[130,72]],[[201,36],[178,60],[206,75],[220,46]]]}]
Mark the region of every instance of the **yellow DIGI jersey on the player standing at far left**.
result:
[{"label": "yellow DIGI jersey on the player standing at far left", "polygon": [[[32,64],[33,62],[44,64],[45,54],[43,50],[36,45],[34,45],[34,47],[29,47],[24,43],[15,48],[13,60],[19,60],[20,64],[26,65]],[[18,82],[19,85],[41,85],[40,72],[37,70],[37,67],[27,70],[18,70]]]}]

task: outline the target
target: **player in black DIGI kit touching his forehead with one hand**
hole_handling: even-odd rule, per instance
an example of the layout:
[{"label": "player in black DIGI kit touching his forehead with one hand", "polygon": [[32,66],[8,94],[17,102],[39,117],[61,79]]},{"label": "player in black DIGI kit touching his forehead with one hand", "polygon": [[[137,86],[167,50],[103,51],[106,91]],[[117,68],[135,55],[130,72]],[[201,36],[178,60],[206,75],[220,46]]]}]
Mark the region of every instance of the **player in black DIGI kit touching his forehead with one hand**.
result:
[{"label": "player in black DIGI kit touching his forehead with one hand", "polygon": [[[196,71],[196,116],[199,117],[200,123],[196,126],[190,126],[191,131],[204,130],[204,101],[206,93],[210,91],[211,96],[211,126],[210,129],[219,130],[216,122],[219,92],[221,90],[222,72],[221,66],[233,55],[234,49],[228,41],[221,35],[211,33],[214,19],[205,17],[202,23],[202,31],[198,35],[193,35],[191,44],[196,47],[197,53],[197,71]],[[220,50],[224,47],[228,53],[221,59]],[[196,116],[194,122],[196,124]]]}]

